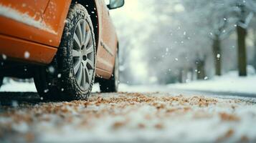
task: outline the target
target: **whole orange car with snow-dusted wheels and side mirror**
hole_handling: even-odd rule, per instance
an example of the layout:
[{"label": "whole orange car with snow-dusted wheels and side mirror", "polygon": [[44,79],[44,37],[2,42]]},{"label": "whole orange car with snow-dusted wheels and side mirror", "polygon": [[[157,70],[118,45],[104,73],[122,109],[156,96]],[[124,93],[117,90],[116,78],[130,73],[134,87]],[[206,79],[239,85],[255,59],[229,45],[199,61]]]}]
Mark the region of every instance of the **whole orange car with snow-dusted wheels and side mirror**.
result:
[{"label": "whole orange car with snow-dusted wheels and side mirror", "polygon": [[[44,99],[118,90],[118,38],[109,9],[124,0],[0,0],[3,77],[34,77]],[[14,87],[15,88],[15,87]]]}]

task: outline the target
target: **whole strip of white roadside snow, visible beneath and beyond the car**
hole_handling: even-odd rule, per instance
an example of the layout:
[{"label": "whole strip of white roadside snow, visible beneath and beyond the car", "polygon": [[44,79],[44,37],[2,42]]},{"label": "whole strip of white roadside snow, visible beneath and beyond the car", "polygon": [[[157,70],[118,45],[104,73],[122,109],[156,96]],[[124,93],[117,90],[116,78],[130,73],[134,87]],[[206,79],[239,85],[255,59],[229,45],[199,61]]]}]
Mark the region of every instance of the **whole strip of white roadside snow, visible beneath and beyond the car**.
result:
[{"label": "whole strip of white roadside snow, visible beneath and beyond the car", "polygon": [[[9,79],[9,82],[1,87],[0,92],[37,92],[34,83],[15,82]],[[237,94],[255,94],[256,97],[256,74],[248,77],[238,77],[237,71],[231,71],[222,77],[214,77],[209,80],[194,81],[186,84],[169,85],[128,85],[120,84],[120,92],[168,92],[174,94],[175,89],[192,90],[202,92],[227,92]],[[99,85],[95,84],[93,92],[100,92]]]}]

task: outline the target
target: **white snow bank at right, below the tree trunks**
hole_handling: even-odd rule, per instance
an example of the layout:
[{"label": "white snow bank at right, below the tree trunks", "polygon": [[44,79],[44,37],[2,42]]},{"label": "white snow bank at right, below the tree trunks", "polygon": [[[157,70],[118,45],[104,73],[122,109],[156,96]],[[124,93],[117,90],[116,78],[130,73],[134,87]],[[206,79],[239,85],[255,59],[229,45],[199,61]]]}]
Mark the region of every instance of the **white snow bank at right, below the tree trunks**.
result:
[{"label": "white snow bank at right, below the tree trunks", "polygon": [[229,72],[222,77],[213,79],[189,82],[186,84],[169,84],[168,87],[173,89],[198,90],[207,92],[231,92],[255,94],[256,97],[256,75],[248,77],[238,77],[236,71]]}]

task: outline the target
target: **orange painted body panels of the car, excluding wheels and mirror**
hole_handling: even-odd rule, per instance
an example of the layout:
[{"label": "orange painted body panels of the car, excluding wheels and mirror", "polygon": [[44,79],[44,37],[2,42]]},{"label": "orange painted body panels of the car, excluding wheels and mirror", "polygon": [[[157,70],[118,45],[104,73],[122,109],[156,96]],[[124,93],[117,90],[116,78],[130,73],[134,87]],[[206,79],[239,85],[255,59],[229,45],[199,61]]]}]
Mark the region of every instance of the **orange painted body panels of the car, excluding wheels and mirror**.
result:
[{"label": "orange painted body panels of the car, excluding wheels and mirror", "polygon": [[[96,75],[113,73],[118,38],[103,0],[80,0],[93,21],[97,44]],[[8,61],[49,64],[60,45],[71,0],[0,0],[0,54]],[[19,13],[22,17],[16,17]],[[24,54],[29,53],[29,57]],[[2,73],[4,74],[4,73]]]}]

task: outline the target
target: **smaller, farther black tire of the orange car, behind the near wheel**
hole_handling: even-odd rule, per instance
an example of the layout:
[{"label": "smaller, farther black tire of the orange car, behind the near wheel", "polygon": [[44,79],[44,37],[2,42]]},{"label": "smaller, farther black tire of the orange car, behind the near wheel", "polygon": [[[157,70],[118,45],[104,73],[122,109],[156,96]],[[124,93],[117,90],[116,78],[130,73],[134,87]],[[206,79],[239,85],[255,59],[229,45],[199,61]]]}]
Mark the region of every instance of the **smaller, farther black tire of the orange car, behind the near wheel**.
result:
[{"label": "smaller, farther black tire of the orange car, behind the near wheel", "polygon": [[100,92],[118,92],[119,61],[118,54],[115,56],[115,66],[110,79],[99,79]]}]

